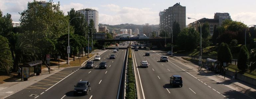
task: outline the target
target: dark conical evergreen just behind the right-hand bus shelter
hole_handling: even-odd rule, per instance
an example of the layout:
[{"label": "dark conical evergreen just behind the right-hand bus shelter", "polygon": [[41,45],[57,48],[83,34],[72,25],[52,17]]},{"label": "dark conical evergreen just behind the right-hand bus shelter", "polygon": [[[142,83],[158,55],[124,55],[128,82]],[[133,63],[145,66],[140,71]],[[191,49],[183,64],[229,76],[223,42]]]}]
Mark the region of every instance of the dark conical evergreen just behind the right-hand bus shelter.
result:
[{"label": "dark conical evergreen just behind the right-hand bus shelter", "polygon": [[232,54],[230,52],[230,49],[228,48],[228,45],[226,43],[221,43],[218,49],[218,61],[229,63],[232,59]]}]

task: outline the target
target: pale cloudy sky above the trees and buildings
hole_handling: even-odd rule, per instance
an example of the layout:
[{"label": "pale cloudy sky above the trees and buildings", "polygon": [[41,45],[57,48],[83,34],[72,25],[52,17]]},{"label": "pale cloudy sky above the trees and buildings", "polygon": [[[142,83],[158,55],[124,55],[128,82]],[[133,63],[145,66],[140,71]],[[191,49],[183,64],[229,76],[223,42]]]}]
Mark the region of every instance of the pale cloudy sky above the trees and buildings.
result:
[{"label": "pale cloudy sky above the trees and buildings", "polygon": [[[40,1],[40,0],[36,0]],[[49,0],[43,0],[49,2]],[[13,21],[19,21],[20,14],[33,0],[0,0],[3,15],[12,15]],[[186,17],[195,19],[213,18],[214,13],[229,13],[234,21],[256,25],[255,0],[53,0],[61,4],[64,15],[71,8],[80,10],[95,9],[99,12],[99,23],[117,24],[159,24],[159,12],[176,3],[186,7]],[[195,21],[186,18],[186,25]]]}]

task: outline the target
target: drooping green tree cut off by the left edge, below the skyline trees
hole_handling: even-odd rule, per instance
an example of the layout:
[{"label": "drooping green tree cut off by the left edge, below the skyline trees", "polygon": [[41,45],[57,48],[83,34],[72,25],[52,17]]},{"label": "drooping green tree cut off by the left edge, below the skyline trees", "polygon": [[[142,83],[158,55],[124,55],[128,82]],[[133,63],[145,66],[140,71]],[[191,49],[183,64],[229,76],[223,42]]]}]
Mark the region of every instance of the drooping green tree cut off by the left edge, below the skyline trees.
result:
[{"label": "drooping green tree cut off by the left edge, below the skyline trees", "polygon": [[8,39],[0,35],[0,68],[7,74],[13,68],[13,59],[8,43]]}]

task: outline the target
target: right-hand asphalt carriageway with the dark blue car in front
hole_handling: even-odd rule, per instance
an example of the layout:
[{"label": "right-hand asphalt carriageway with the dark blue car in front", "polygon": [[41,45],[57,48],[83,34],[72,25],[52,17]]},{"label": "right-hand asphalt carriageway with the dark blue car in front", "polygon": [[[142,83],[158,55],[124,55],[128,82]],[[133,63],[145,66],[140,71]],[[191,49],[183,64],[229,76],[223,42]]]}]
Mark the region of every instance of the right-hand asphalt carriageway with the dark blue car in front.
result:
[{"label": "right-hand asphalt carriageway with the dark blue car in front", "polygon": [[[150,52],[150,56],[144,56],[145,52]],[[138,69],[140,76],[137,76],[137,82],[141,82],[141,85],[138,86],[141,99],[251,99],[251,97],[224,84],[200,75],[197,71],[176,62],[173,58],[169,57],[168,62],[160,62],[160,55],[163,54],[166,55],[166,52],[140,49],[133,51],[136,58],[136,69]],[[141,61],[148,61],[149,67],[141,68]],[[171,75],[181,75],[183,87],[171,86]]]}]

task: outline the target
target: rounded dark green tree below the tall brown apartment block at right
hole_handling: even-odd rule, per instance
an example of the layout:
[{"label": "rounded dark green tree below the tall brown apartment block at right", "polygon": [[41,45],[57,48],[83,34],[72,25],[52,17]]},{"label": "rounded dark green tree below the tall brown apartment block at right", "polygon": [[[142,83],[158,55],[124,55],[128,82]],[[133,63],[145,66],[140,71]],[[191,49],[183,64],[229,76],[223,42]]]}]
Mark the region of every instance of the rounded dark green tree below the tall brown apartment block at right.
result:
[{"label": "rounded dark green tree below the tall brown apartment block at right", "polygon": [[177,45],[180,50],[193,50],[199,45],[199,38],[194,28],[184,28],[178,35]]}]

